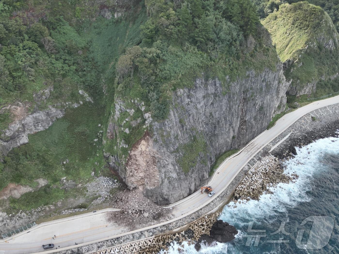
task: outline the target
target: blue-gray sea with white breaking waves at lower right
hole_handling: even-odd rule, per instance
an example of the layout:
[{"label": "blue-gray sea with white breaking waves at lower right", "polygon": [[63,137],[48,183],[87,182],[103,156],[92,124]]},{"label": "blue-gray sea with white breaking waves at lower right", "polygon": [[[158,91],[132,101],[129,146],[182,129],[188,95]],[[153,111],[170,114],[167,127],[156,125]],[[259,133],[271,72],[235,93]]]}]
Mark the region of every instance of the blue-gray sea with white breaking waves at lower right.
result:
[{"label": "blue-gray sea with white breaking waves at lower right", "polygon": [[237,228],[235,240],[202,245],[199,252],[174,243],[168,253],[339,253],[339,138],[297,153],[284,163],[285,172],[299,175],[295,183],[280,183],[259,201],[224,207],[219,219]]}]

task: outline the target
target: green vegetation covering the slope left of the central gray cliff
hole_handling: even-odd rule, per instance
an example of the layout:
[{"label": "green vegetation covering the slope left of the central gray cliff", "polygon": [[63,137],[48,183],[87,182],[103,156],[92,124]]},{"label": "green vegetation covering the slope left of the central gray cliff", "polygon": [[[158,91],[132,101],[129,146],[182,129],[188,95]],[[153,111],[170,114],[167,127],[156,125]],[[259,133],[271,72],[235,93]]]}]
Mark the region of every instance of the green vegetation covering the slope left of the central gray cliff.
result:
[{"label": "green vegetation covering the slope left of the central gray cliff", "polygon": [[[31,4],[45,8],[48,19],[31,26],[23,23],[26,20],[21,18],[21,11],[32,7]],[[78,5],[77,8],[74,5]],[[47,130],[29,135],[28,144],[13,149],[0,163],[3,179],[0,190],[8,183],[35,187],[35,179],[48,180],[48,185],[37,191],[19,199],[11,198],[8,209],[29,210],[79,195],[75,193],[81,192],[79,188],[59,188],[62,177],[84,184],[91,180],[92,171],[96,175],[107,175],[108,169],[103,168],[102,145],[102,135],[106,131],[98,125],[108,122],[114,98],[112,83],[116,62],[126,47],[141,42],[140,25],[146,15],[145,9],[139,6],[134,16],[111,20],[97,17],[92,22],[89,18],[97,15],[98,7],[62,0],[34,1],[29,5],[11,0],[0,3],[0,108],[18,99],[31,103],[33,108],[36,103],[33,94],[49,85],[54,86],[54,91],[39,108],[83,101],[79,89],[94,98],[93,104],[86,102],[78,108],[66,109],[63,118]],[[19,17],[9,19],[14,10]],[[141,116],[139,111],[134,117]],[[0,114],[0,129],[5,129],[11,119],[9,111]],[[126,128],[135,134],[134,138],[133,135],[126,137],[128,144],[136,142],[143,134],[141,128],[135,132],[128,124]],[[114,151],[111,144],[106,142],[105,148]],[[62,164],[66,160],[69,163]]]}]

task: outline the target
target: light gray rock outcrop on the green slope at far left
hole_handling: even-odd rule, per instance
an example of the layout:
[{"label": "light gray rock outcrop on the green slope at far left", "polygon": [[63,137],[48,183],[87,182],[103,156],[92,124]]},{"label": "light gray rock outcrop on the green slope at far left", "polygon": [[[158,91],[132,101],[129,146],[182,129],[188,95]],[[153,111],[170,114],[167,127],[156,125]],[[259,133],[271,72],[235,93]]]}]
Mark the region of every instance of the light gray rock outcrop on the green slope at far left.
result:
[{"label": "light gray rock outcrop on the green slope at far left", "polygon": [[56,109],[49,106],[48,109],[37,111],[17,120],[8,126],[0,139],[0,157],[14,147],[28,143],[28,134],[33,134],[47,129],[54,121],[65,114],[64,109]]}]

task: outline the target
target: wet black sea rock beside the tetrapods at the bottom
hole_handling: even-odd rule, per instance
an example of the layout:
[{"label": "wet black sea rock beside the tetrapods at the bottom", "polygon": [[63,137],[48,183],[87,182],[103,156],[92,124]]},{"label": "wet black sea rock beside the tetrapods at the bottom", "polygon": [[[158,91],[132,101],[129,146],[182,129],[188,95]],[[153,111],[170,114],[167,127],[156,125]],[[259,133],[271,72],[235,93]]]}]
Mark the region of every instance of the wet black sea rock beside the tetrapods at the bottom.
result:
[{"label": "wet black sea rock beside the tetrapods at the bottom", "polygon": [[215,241],[232,241],[235,239],[236,234],[238,234],[238,231],[234,226],[219,219],[213,224],[210,236],[206,234],[202,235],[199,238],[198,242],[195,244],[194,248],[199,251],[201,248],[201,242],[204,242],[204,244],[207,246],[212,246]]}]

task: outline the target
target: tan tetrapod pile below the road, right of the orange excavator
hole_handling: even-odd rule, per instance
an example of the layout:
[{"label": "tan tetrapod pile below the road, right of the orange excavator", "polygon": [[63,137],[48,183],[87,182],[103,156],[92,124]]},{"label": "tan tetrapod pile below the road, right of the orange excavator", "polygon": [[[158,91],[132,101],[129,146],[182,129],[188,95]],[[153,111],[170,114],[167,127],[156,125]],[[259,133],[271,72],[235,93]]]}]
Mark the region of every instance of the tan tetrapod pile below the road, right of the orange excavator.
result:
[{"label": "tan tetrapod pile below the road, right of the orange excavator", "polygon": [[232,201],[237,203],[238,199],[259,200],[260,195],[264,192],[273,193],[268,190],[269,187],[275,187],[278,183],[295,182],[297,178],[298,175],[295,173],[291,175],[284,173],[278,158],[272,155],[266,156],[247,172],[236,188]]}]

